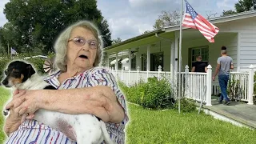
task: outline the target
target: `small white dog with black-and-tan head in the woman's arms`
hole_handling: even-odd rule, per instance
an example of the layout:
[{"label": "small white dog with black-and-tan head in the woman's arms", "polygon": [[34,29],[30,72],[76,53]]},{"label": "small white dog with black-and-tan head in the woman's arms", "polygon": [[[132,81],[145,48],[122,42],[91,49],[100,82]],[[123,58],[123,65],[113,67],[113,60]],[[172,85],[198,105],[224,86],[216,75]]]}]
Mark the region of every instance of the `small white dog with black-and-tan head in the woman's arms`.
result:
[{"label": "small white dog with black-and-tan head in the woman's arms", "polygon": [[[34,68],[22,61],[10,62],[5,70],[6,78],[2,84],[18,90],[55,89],[35,73]],[[7,115],[9,110],[5,110]],[[23,116],[24,117],[24,116]],[[26,118],[26,116],[24,117]],[[39,109],[34,119],[53,129],[61,131],[78,144],[106,143],[114,144],[106,131],[105,122],[91,114],[63,114],[55,111]]]}]

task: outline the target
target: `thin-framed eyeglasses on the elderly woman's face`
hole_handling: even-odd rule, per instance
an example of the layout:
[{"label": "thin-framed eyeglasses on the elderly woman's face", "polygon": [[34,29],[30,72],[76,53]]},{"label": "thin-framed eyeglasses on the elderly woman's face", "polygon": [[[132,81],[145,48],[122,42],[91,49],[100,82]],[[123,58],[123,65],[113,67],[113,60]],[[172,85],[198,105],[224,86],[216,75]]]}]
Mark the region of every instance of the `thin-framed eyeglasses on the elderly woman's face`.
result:
[{"label": "thin-framed eyeglasses on the elderly woman's face", "polygon": [[84,46],[87,42],[91,49],[97,49],[97,47],[98,47],[97,41],[94,41],[94,40],[87,41],[85,38],[82,38],[82,37],[74,37],[74,38],[68,40],[68,42],[70,42],[70,41],[73,41],[77,46]]}]

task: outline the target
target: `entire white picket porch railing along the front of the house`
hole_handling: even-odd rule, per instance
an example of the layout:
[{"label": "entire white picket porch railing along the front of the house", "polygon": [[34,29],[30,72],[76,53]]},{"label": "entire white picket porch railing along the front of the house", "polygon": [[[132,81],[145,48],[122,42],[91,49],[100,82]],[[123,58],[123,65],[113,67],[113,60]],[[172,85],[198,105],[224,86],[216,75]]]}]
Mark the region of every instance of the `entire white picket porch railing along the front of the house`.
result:
[{"label": "entire white picket porch railing along the front of the house", "polygon": [[[170,79],[172,86],[178,86],[178,74],[174,78],[170,72],[162,71],[161,66],[158,71],[140,71],[137,70],[112,70],[114,76],[127,86],[133,85],[140,80],[147,82],[147,78],[157,77]],[[185,67],[185,72],[182,72],[182,94],[186,98],[197,101],[206,102],[206,106],[211,106],[211,95],[219,94],[218,79],[212,82],[212,68],[209,65],[206,73],[189,72],[189,66]],[[253,104],[254,94],[254,66],[250,66],[248,72],[231,72],[229,82],[229,96],[248,104]]]}]

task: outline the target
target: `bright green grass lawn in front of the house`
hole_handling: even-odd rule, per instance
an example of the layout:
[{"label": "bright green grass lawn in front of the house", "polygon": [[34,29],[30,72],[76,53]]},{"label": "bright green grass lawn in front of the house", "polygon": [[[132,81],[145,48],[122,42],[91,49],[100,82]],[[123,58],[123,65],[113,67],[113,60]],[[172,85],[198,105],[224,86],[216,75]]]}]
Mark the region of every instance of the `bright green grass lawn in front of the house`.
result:
[{"label": "bright green grass lawn in front of the house", "polygon": [[[9,92],[0,87],[1,106]],[[256,143],[256,131],[233,126],[205,114],[178,110],[146,110],[129,104],[130,122],[126,127],[128,144],[165,143]],[[2,129],[2,114],[1,129]],[[1,130],[2,131],[2,130]],[[0,143],[4,134],[0,133]]]}]

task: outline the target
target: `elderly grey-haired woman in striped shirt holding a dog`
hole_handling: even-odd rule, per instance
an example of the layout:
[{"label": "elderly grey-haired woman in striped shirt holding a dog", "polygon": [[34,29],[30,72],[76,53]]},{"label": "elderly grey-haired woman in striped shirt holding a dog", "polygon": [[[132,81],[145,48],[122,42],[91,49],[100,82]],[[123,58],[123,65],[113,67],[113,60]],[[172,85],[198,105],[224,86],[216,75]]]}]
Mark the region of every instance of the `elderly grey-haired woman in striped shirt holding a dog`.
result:
[{"label": "elderly grey-haired woman in striped shirt holding a dog", "polygon": [[[97,67],[101,62],[102,40],[90,22],[74,23],[62,31],[54,49],[59,69],[45,78],[58,90],[17,90],[7,104],[10,115],[4,130],[6,143],[76,143],[59,131],[33,119],[38,109],[66,114],[94,114],[106,123],[110,138],[125,142],[128,122],[126,101],[109,70]],[[21,114],[30,114],[21,123]],[[102,142],[104,143],[104,142]]]}]

